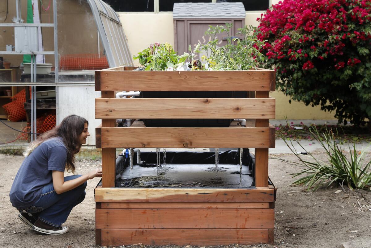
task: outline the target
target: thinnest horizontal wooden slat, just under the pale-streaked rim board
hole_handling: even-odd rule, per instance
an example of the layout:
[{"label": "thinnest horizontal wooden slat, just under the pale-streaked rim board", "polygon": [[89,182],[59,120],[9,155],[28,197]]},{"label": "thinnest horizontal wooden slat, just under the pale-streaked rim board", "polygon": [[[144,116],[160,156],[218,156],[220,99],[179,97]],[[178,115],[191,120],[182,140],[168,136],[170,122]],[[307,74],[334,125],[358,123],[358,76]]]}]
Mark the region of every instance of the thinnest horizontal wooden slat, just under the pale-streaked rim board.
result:
[{"label": "thinnest horizontal wooden slat, just under the pale-streaked rim board", "polygon": [[270,208],[269,202],[99,202],[101,208]]}]

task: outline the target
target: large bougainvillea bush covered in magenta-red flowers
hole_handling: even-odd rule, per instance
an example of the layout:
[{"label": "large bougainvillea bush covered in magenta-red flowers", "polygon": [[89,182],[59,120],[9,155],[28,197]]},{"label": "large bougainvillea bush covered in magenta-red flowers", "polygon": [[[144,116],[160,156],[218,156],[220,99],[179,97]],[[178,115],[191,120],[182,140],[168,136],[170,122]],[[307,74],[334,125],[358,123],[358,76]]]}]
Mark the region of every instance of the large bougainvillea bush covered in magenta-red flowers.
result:
[{"label": "large bougainvillea bush covered in magenta-red flowers", "polygon": [[280,90],[339,122],[370,120],[370,13],[371,0],[284,0],[267,10],[259,39]]}]

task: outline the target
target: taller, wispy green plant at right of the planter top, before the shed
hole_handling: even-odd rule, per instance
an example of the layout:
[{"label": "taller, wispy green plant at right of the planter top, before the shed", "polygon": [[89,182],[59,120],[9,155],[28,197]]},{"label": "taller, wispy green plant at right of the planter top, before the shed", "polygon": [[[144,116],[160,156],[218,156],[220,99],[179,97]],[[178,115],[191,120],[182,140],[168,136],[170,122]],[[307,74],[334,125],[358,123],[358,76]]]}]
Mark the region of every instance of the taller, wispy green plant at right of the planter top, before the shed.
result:
[{"label": "taller, wispy green plant at right of the planter top, before the shed", "polygon": [[[211,36],[211,40],[201,47],[206,56],[202,60],[206,62],[206,68],[212,70],[250,70],[255,67],[256,61],[263,61],[264,56],[260,49],[264,41],[260,41],[257,36],[260,34],[253,26],[245,26],[238,29],[237,36],[241,38],[231,38],[230,33],[232,23],[224,26],[209,26],[205,35]],[[227,33],[227,44],[219,47],[219,40],[216,38],[221,33]]]}]

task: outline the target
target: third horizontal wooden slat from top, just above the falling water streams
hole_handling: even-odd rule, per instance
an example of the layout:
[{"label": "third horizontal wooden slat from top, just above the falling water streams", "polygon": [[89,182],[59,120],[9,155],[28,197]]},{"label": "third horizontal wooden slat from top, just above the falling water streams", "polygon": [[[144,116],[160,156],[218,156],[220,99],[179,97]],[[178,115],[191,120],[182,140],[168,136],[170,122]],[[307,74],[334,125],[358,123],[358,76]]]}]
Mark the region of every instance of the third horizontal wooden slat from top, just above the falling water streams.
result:
[{"label": "third horizontal wooden slat from top, just above the falling water streams", "polygon": [[269,127],[102,127],[102,148],[269,148]]}]

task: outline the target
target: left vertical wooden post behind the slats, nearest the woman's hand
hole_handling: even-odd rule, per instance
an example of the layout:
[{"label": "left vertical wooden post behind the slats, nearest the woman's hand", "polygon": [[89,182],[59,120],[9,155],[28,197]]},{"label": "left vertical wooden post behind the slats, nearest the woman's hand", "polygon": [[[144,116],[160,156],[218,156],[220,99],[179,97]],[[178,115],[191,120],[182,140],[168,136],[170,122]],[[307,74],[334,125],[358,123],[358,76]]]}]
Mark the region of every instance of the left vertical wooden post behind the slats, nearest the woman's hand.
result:
[{"label": "left vertical wooden post behind the slats, nearest the woman's hand", "polygon": [[[115,91],[102,91],[102,97],[115,97]],[[102,119],[102,127],[115,127],[115,119]],[[102,148],[102,187],[115,187],[116,148]]]}]

